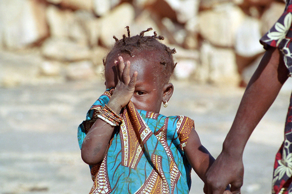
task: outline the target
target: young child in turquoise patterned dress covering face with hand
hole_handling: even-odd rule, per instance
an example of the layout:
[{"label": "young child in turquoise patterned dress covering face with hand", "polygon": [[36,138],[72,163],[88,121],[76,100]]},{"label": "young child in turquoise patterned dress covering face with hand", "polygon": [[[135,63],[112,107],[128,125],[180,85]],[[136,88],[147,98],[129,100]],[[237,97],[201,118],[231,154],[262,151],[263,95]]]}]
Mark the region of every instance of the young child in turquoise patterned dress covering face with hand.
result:
[{"label": "young child in turquoise patterned dress covering face with hand", "polygon": [[[91,194],[188,194],[191,169],[205,182],[214,158],[194,121],[159,114],[173,93],[170,49],[153,36],[116,40],[104,63],[106,91],[78,128],[82,159],[91,167]],[[125,63],[126,62],[126,63]],[[205,191],[206,192],[206,191]]]}]

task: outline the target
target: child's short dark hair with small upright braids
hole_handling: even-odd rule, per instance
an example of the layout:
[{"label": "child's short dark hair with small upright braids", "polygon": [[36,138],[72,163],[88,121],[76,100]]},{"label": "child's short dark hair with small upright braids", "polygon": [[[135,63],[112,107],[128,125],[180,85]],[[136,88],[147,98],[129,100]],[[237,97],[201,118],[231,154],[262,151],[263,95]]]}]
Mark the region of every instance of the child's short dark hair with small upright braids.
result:
[{"label": "child's short dark hair with small upright braids", "polygon": [[156,32],[153,33],[153,36],[144,36],[144,33],[151,31],[152,28],[148,28],[147,30],[142,31],[140,35],[134,37],[130,36],[129,26],[127,26],[126,29],[128,36],[123,35],[122,39],[117,39],[113,36],[113,39],[115,39],[116,42],[106,58],[103,59],[103,65],[106,65],[106,61],[108,61],[110,56],[118,53],[127,53],[131,57],[134,57],[143,51],[159,52],[160,64],[163,67],[161,74],[164,80],[162,82],[168,82],[177,64],[174,63],[172,56],[172,54],[176,53],[175,48],[170,49],[168,46],[158,41],[157,39],[163,40],[164,37],[157,36]]}]

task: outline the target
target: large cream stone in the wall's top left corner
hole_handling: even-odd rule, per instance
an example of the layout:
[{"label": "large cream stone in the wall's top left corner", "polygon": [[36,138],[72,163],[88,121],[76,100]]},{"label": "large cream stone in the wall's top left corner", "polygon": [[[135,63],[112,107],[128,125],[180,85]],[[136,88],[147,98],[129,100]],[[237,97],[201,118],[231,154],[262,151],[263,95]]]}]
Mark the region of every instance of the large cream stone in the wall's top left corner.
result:
[{"label": "large cream stone in the wall's top left corner", "polygon": [[0,47],[23,49],[47,37],[44,13],[37,0],[0,0]]}]

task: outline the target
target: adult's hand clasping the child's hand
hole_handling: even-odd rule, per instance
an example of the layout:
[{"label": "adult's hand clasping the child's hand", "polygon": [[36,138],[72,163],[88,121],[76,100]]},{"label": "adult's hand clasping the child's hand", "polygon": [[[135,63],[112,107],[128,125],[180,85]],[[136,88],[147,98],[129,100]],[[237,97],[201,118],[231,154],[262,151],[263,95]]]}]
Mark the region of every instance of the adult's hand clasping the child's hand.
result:
[{"label": "adult's hand clasping the child's hand", "polygon": [[[242,157],[235,158],[222,152],[206,173],[207,194],[241,194],[243,185]],[[228,185],[230,191],[225,191]]]}]

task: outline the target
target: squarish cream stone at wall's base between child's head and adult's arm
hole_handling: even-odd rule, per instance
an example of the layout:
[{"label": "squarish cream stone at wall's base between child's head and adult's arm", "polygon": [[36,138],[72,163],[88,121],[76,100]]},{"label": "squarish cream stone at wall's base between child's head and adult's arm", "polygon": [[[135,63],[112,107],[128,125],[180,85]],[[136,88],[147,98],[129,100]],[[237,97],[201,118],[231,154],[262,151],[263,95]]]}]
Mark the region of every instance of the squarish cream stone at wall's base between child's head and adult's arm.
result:
[{"label": "squarish cream stone at wall's base between child's head and adult's arm", "polygon": [[203,43],[200,49],[200,60],[201,64],[195,72],[196,80],[238,86],[240,76],[232,49],[216,48],[209,43]]}]

